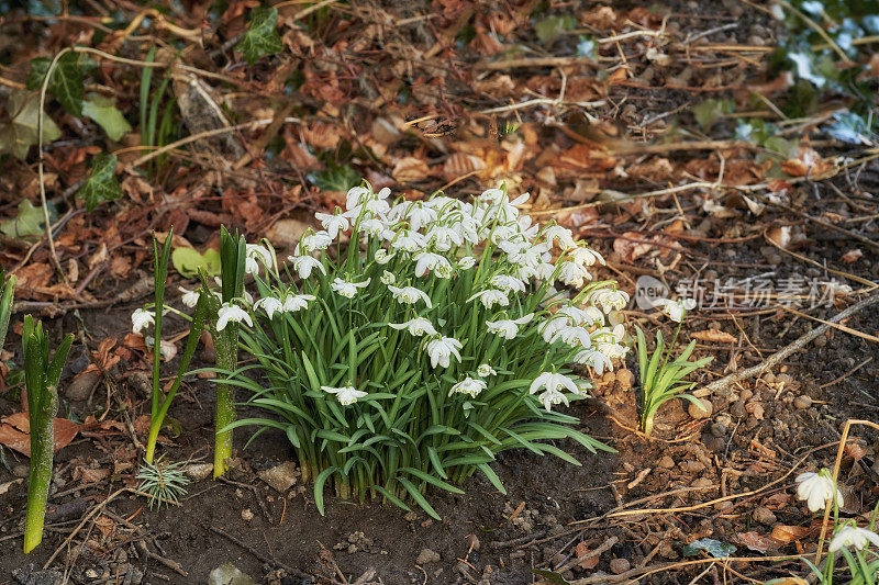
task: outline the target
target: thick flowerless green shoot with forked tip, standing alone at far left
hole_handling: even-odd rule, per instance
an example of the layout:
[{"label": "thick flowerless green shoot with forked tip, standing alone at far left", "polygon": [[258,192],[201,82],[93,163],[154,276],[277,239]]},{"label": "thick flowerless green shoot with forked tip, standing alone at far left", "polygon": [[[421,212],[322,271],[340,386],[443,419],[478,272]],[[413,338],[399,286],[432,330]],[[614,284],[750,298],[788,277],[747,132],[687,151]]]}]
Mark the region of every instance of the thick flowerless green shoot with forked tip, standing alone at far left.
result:
[{"label": "thick flowerless green shoot with forked tip, standing alone at far left", "polygon": [[55,446],[55,415],[58,413],[57,385],[73,342],[74,334],[68,334],[49,361],[48,338],[43,330],[43,324],[38,320],[34,323],[31,315],[25,315],[22,348],[31,423],[31,479],[24,521],[25,553],[31,552],[43,540],[43,521],[46,516]]}]

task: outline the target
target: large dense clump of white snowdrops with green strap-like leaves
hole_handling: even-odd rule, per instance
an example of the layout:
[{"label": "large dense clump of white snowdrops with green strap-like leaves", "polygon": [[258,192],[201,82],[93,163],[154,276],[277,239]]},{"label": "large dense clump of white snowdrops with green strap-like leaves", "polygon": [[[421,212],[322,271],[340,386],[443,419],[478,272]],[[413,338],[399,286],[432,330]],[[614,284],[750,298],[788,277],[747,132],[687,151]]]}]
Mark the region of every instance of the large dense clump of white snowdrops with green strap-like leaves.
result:
[{"label": "large dense clump of white snowdrops with green strap-like leaves", "polygon": [[235,324],[254,363],[220,373],[276,416],[230,428],[282,429],[321,511],[331,479],[342,495],[438,517],[427,487],[461,493],[479,471],[503,491],[489,466],[503,450],[575,464],[550,441],[609,451],[557,407],[587,395],[587,367],[600,374],[625,355],[607,315],[628,296],[592,281],[603,259],[569,229],[520,213],[526,200],[491,189],[391,201],[364,184],[344,211],[315,214],[323,229],[286,262],[247,245],[256,300],[224,302],[214,326]]}]

